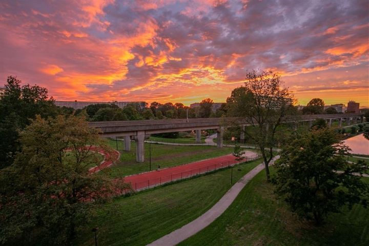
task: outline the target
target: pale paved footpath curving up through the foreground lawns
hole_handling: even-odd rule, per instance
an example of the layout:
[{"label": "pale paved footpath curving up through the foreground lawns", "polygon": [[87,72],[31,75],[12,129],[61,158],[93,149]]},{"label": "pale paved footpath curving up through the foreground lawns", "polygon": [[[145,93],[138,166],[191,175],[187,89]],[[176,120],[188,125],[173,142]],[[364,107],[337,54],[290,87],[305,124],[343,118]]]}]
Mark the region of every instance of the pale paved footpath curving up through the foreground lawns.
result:
[{"label": "pale paved footpath curving up through the foreground lawns", "polygon": [[[276,156],[273,162],[278,159]],[[271,162],[270,165],[273,163]],[[183,240],[195,235],[202,229],[206,228],[211,224],[216,218],[218,218],[226,209],[232,204],[237,195],[241,192],[243,187],[261,170],[264,169],[264,163],[260,163],[249,173],[244,175],[240,180],[238,180],[232,188],[224,194],[222,198],[206,213],[198,217],[197,219],[191,221],[185,226],[163,236],[156,241],[148,244],[149,246],[172,246],[180,243]]]}]

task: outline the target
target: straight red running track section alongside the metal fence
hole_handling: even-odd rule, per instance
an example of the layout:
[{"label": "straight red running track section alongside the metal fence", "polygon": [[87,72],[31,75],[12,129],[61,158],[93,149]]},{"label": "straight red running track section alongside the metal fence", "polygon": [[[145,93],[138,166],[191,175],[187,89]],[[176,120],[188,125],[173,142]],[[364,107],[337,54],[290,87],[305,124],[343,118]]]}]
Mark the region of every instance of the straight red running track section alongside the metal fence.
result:
[{"label": "straight red running track section alongside the metal fence", "polygon": [[[244,159],[244,161],[247,159]],[[132,189],[139,191],[161,185],[178,179],[188,178],[220,168],[226,168],[236,163],[233,155],[224,155],[212,159],[200,160],[172,168],[161,169],[127,176],[125,182],[131,183]]]}]

